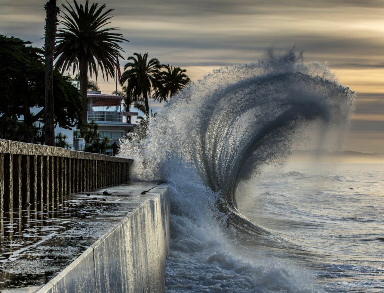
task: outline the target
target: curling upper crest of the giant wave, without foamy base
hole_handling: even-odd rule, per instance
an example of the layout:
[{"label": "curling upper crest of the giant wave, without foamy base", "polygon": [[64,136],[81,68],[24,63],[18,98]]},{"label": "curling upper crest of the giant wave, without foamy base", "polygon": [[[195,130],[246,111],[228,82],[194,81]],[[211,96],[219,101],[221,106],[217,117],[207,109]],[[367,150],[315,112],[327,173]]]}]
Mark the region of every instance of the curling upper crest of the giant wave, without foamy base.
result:
[{"label": "curling upper crest of the giant wave, without foamy base", "polygon": [[148,138],[126,140],[123,156],[139,179],[167,180],[179,164],[196,170],[235,209],[241,178],[286,156],[308,122],[344,128],[354,93],[326,65],[294,51],[213,71],[172,98],[151,119]]}]

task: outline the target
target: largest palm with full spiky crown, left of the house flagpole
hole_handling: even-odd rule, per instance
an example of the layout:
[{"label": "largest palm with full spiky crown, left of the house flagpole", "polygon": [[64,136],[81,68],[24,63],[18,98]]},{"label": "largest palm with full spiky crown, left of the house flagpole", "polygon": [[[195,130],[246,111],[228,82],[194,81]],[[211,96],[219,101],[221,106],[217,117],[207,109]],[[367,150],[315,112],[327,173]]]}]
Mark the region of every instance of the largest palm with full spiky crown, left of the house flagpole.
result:
[{"label": "largest palm with full spiky crown, left of the house flagpole", "polygon": [[73,74],[76,69],[80,71],[83,107],[80,125],[82,125],[87,122],[88,68],[90,76],[94,73],[96,79],[99,69],[104,79],[114,78],[116,57],[122,58],[119,43],[128,40],[124,39],[122,34],[116,33],[119,28],[105,28],[112,18],[109,13],[113,11],[113,9],[104,11],[105,4],[98,7],[97,3],[93,3],[89,7],[88,0],[85,6],[78,5],[76,0],[74,8],[69,2],[67,4],[68,6],[62,4],[64,11],[60,24],[63,27],[57,33],[56,68],[62,72],[73,69]]}]

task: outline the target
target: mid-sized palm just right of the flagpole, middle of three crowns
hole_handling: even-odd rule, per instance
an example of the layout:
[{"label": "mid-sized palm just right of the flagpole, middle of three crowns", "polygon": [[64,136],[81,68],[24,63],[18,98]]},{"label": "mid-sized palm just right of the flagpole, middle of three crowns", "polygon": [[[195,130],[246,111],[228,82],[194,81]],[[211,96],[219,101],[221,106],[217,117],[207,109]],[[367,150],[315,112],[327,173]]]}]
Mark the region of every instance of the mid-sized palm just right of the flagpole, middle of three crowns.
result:
[{"label": "mid-sized palm just right of the flagpole, middle of three crowns", "polygon": [[126,82],[126,95],[132,97],[133,100],[143,100],[145,103],[145,114],[149,117],[148,98],[156,85],[156,78],[160,71],[160,61],[152,58],[148,61],[148,53],[143,56],[134,53],[130,56],[128,62],[124,66],[124,72],[121,76],[120,84]]}]

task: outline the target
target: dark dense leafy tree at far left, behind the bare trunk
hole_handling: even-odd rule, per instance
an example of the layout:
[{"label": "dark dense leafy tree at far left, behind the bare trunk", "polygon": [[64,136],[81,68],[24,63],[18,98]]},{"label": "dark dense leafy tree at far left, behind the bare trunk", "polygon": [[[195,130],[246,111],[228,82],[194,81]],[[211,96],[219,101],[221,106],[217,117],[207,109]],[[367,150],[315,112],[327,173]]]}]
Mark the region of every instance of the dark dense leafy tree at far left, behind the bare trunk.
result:
[{"label": "dark dense leafy tree at far left, behind the bare trunk", "polygon": [[[13,139],[34,142],[37,121],[44,121],[45,106],[45,67],[43,51],[29,45],[30,42],[0,35],[0,116],[8,127],[14,127],[17,134]],[[53,91],[55,93],[54,122],[62,128],[75,126],[81,103],[79,92],[70,79],[53,71]],[[32,107],[40,107],[37,113]],[[23,116],[23,121],[18,118]],[[12,122],[10,122],[12,121]],[[6,123],[0,126],[7,127]],[[4,129],[4,136],[10,137]],[[9,134],[9,133],[8,133]]]}]

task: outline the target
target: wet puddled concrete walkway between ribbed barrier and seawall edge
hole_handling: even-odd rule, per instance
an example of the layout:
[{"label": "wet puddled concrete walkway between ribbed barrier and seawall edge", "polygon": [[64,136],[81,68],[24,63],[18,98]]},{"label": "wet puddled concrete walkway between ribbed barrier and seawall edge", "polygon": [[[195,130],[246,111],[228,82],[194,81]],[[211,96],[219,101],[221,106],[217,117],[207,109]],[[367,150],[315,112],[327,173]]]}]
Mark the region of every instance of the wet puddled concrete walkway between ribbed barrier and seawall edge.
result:
[{"label": "wet puddled concrete walkway between ribbed barrier and seawall edge", "polygon": [[[0,292],[35,292],[145,201],[156,182],[72,194],[56,206],[5,217],[0,231]],[[110,194],[103,194],[107,190]]]}]

